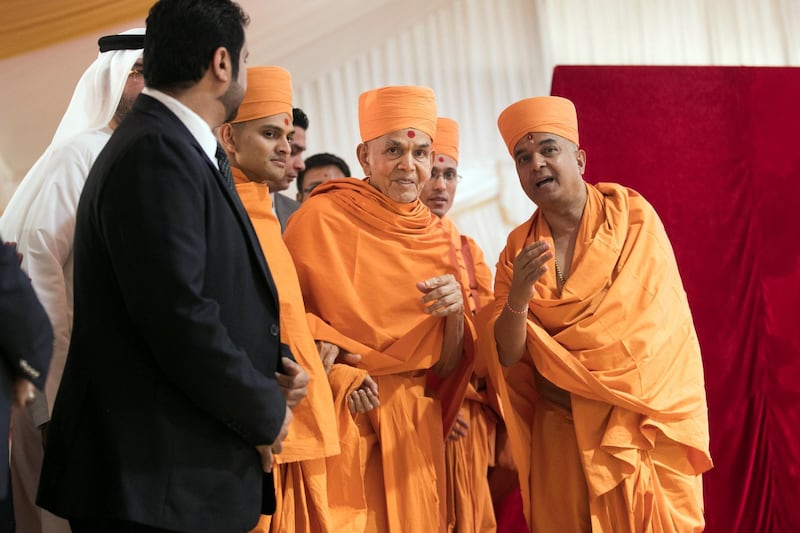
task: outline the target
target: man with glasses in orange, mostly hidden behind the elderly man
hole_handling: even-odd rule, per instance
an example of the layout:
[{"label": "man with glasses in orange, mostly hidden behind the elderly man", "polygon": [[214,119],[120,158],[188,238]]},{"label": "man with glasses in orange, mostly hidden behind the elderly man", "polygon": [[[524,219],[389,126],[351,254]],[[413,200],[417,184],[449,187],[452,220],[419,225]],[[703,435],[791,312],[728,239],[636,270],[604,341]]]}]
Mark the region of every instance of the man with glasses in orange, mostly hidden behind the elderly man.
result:
[{"label": "man with glasses in orange, mostly hidden behind the elderly man", "polygon": [[[422,188],[419,198],[431,212],[445,219],[453,207],[458,175],[458,122],[439,117],[436,122],[436,140],[433,170]],[[449,222],[449,219],[445,219]],[[467,304],[475,316],[494,299],[492,272],[483,258],[477,243],[461,235],[461,254],[469,275]],[[476,373],[481,364],[476,354]],[[447,530],[490,532],[497,529],[492,498],[489,493],[488,470],[494,462],[494,430],[496,417],[491,412],[492,403],[485,386],[485,374],[474,375],[467,386],[464,403],[456,417],[445,443],[447,465]]]}]

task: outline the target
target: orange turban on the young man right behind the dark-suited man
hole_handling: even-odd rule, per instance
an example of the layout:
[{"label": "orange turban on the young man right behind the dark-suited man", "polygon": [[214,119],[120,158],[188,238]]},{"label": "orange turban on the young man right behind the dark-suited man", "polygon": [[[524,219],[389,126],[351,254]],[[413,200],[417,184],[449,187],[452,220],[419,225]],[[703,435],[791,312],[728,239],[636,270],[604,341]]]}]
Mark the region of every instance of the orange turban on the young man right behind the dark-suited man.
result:
[{"label": "orange turban on the young man right behind the dark-suited man", "polygon": [[247,92],[233,123],[270,117],[280,113],[292,116],[292,77],[281,67],[247,69]]}]

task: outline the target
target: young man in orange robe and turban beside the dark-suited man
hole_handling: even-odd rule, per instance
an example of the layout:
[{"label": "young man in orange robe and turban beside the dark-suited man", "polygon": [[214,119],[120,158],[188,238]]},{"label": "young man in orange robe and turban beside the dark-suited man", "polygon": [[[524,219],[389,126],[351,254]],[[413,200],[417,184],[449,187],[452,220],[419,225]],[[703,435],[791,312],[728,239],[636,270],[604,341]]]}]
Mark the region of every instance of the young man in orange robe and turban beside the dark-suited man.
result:
[{"label": "young man in orange robe and turban beside the dark-suited man", "polygon": [[[281,340],[310,377],[308,395],[293,405],[289,434],[282,452],[275,456],[277,509],[271,517],[262,515],[255,531],[319,533],[340,531],[337,526],[351,517],[332,516],[330,511],[326,458],[340,452],[334,400],[269,193],[269,184],[283,178],[292,132],[289,72],[280,67],[249,68],[239,112],[232,122],[220,126],[218,137],[230,160],[236,191],[280,291]],[[352,369],[349,375],[357,385],[363,385],[364,371]],[[374,382],[366,379],[372,388],[365,386],[354,400],[362,409],[362,397],[377,403]],[[346,405],[343,409],[349,416]]]}]

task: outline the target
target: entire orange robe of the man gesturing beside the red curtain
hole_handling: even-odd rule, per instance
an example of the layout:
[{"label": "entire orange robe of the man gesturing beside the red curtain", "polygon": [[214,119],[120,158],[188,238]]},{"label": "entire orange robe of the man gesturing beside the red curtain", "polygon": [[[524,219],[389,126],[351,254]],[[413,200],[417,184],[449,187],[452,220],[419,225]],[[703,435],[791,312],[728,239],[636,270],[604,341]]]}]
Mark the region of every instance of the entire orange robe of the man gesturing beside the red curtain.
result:
[{"label": "entire orange robe of the man gesturing beside the red curtain", "polygon": [[[494,353],[489,373],[525,517],[531,531],[559,530],[563,525],[547,521],[559,514],[547,512],[556,498],[561,516],[585,511],[585,531],[700,531],[700,475],[712,467],[708,416],[700,347],[674,253],[638,193],[615,184],[587,190],[566,284],[559,293],[550,268],[534,285],[527,356],[502,369],[494,323],[520,250],[540,239],[553,247],[539,212],[508,237],[493,318],[479,339]],[[534,367],[571,393],[571,412],[537,399]],[[547,490],[535,490],[543,484]]]}]

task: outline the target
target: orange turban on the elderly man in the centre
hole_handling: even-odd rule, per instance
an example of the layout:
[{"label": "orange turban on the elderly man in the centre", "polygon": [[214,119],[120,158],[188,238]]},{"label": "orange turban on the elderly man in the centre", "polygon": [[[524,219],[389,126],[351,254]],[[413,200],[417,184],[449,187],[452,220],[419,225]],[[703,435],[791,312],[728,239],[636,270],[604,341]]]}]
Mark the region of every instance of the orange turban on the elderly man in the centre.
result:
[{"label": "orange turban on the elderly man in the centre", "polygon": [[358,98],[361,141],[377,139],[393,131],[414,128],[436,134],[436,96],[427,87],[381,87]]}]

